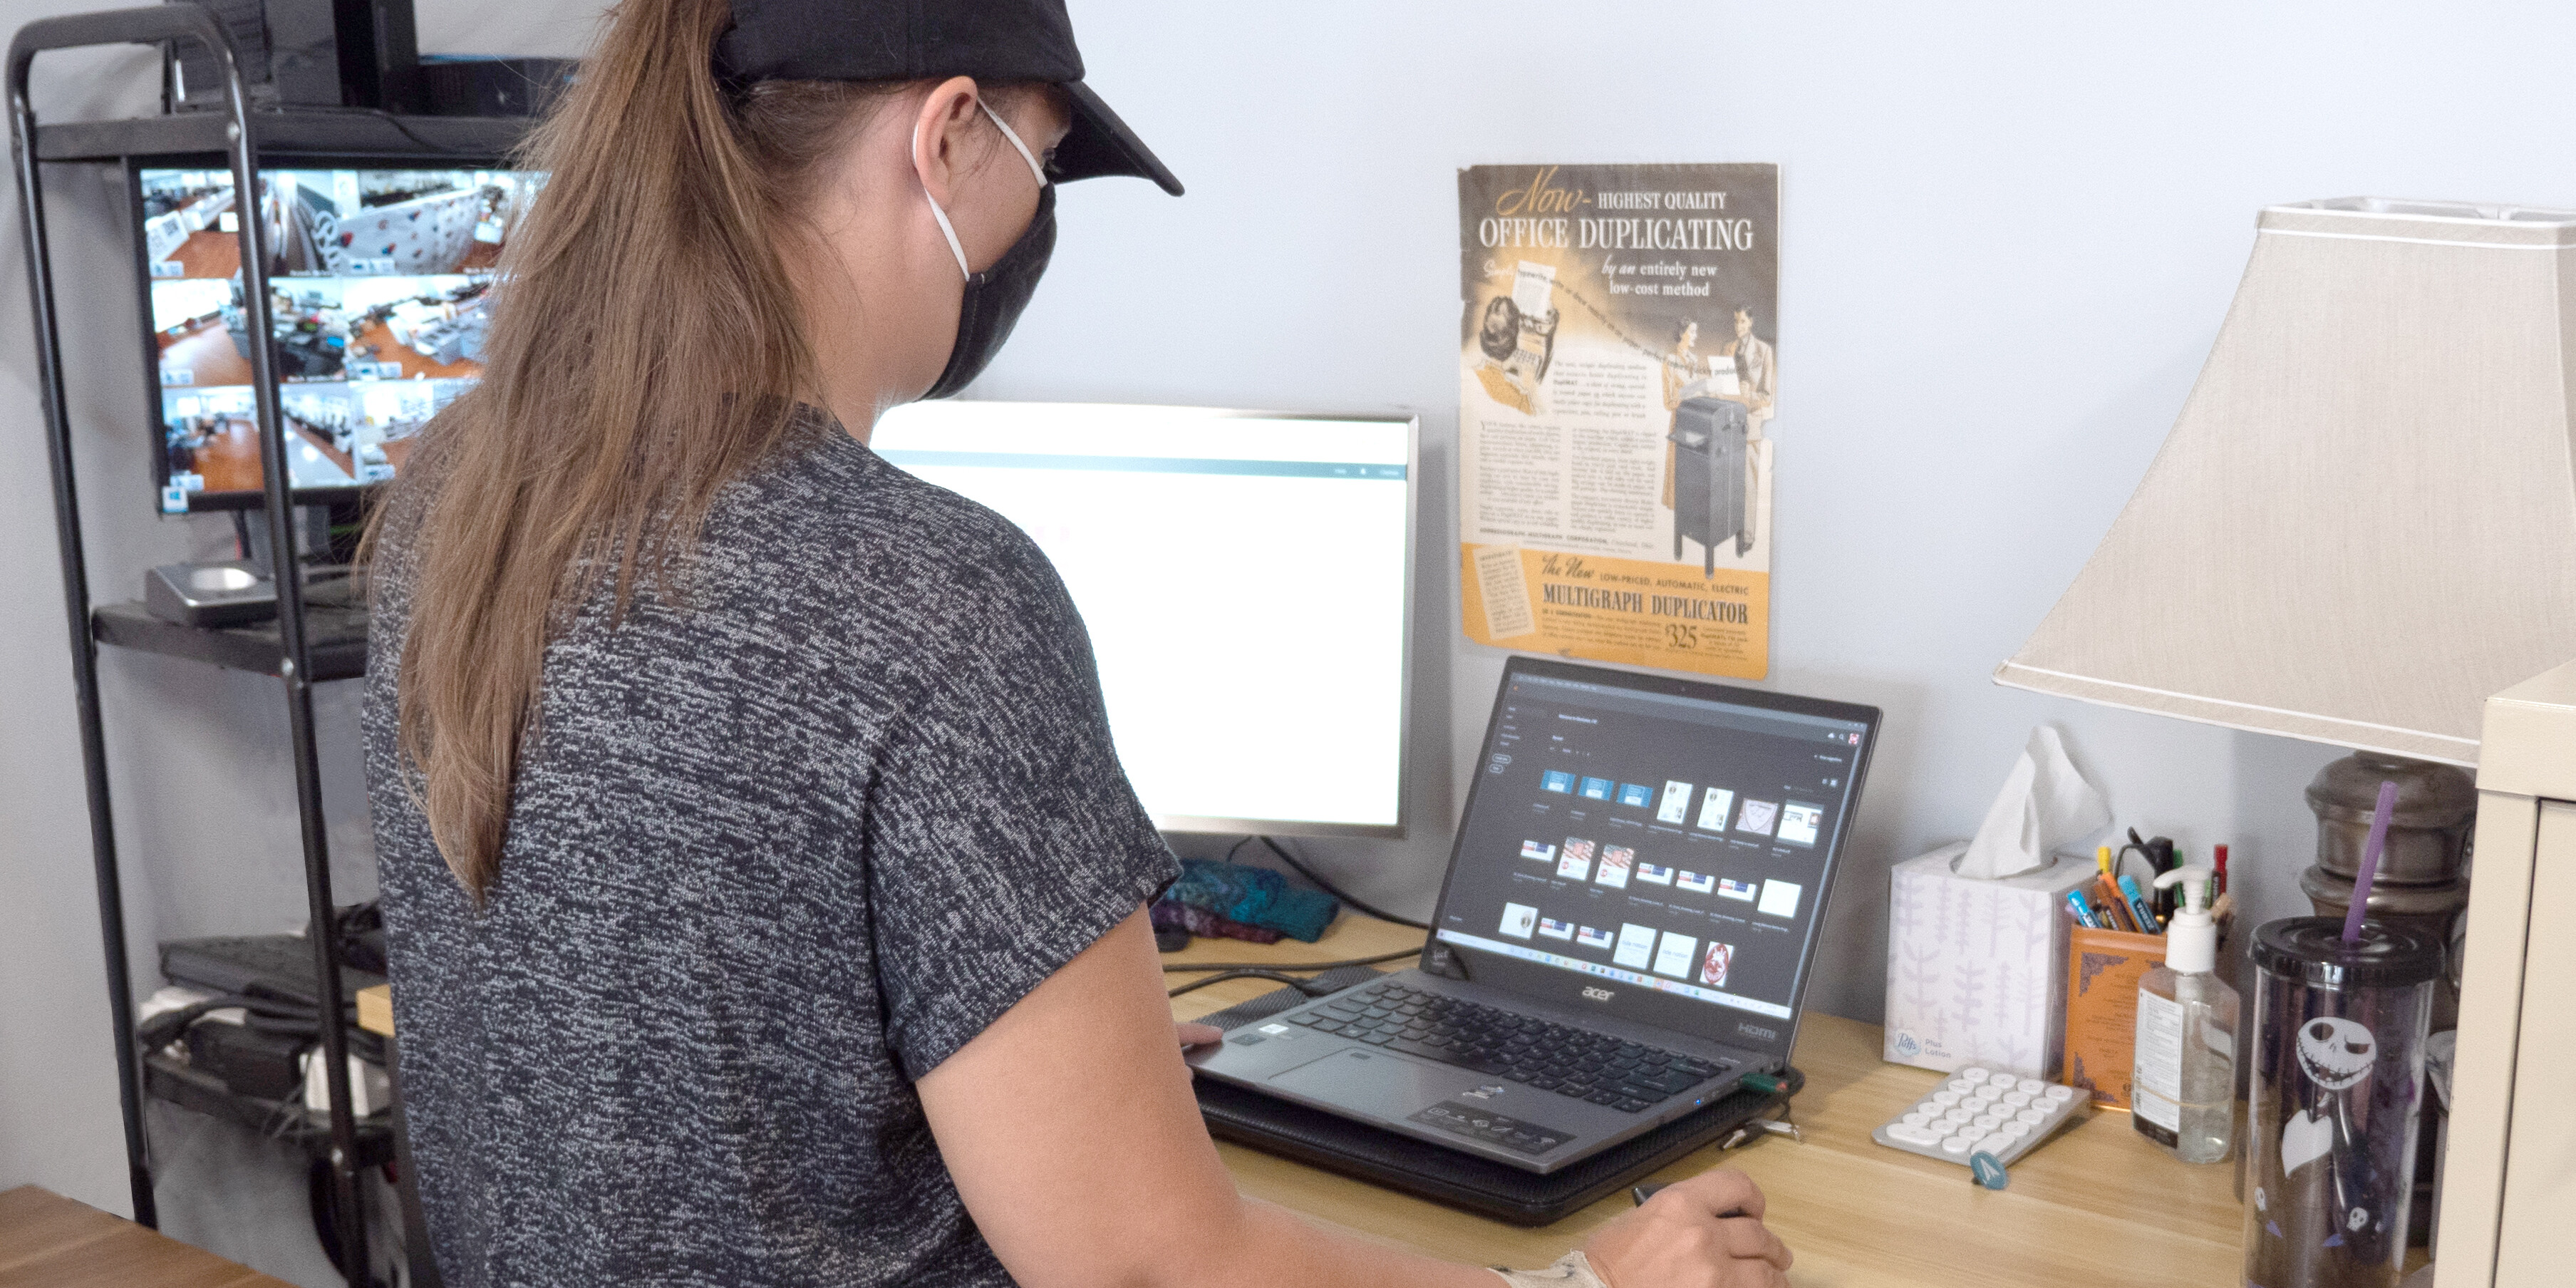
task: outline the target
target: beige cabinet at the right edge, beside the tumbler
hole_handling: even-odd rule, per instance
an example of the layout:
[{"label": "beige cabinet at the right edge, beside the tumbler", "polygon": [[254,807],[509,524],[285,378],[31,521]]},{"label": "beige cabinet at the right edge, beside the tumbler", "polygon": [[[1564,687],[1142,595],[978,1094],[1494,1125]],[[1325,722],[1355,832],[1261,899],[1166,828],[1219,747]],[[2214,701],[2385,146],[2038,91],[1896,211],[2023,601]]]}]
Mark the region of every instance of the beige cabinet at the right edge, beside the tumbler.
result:
[{"label": "beige cabinet at the right edge, beside the tumbler", "polygon": [[2576,662],[2486,701],[2434,1288],[2576,1283]]}]

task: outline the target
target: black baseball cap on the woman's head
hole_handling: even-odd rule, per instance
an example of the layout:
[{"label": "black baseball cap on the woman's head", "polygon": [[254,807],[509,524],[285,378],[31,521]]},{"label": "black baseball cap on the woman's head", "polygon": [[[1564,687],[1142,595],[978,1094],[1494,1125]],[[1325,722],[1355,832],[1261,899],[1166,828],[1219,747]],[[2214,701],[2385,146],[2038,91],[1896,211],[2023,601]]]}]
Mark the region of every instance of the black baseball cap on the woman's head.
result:
[{"label": "black baseball cap on the woman's head", "polygon": [[757,80],[1043,80],[1061,85],[1074,129],[1056,144],[1059,183],[1100,175],[1180,180],[1082,82],[1064,0],[734,0],[716,75]]}]

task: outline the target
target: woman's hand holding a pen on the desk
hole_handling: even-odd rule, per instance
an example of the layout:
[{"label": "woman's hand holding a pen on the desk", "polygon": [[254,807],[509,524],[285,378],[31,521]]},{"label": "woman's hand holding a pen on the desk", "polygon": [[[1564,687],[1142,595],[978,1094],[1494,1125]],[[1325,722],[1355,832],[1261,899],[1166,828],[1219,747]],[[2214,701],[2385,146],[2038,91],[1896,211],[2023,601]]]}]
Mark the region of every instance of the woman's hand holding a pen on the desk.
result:
[{"label": "woman's hand holding a pen on the desk", "polygon": [[1790,1252],[1762,1226],[1762,1188],[1734,1167],[1662,1188],[1584,1244],[1610,1288],[1785,1288]]}]

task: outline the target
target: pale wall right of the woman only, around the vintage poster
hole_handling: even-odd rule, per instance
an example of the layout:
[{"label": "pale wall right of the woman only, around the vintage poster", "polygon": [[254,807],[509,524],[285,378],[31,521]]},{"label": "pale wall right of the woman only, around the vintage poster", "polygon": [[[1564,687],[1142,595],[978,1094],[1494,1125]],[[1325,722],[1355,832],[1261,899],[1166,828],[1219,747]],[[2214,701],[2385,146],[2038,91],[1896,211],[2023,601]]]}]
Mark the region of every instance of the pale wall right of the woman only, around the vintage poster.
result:
[{"label": "pale wall right of the woman only, around the vintage poster", "polygon": [[[1425,688],[1406,845],[1324,845],[1427,912],[1502,652],[1455,608],[1455,183],[1471,162],[1783,167],[1772,677],[1888,711],[1811,1002],[1875,1018],[1886,866],[1965,837],[2056,721],[2120,824],[2231,842],[2306,912],[2334,750],[1989,683],[2164,440],[2254,211],[2576,204],[2576,15],[2491,5],[1087,5],[1092,82],[1190,185],[1077,185],[984,397],[1414,407]],[[2414,528],[2434,515],[2391,518]],[[1221,629],[1224,623],[1193,623]]]}]

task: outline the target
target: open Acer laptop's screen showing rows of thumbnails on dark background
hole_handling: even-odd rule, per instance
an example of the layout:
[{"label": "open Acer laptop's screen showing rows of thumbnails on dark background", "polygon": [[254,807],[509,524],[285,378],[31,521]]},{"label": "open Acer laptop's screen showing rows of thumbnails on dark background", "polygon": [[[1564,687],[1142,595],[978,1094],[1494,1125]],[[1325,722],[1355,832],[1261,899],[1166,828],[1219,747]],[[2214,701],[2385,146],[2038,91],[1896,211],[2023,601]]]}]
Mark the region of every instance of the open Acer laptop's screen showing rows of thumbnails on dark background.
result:
[{"label": "open Acer laptop's screen showing rows of thumbnails on dark background", "polygon": [[1515,659],[1435,938],[1476,979],[1785,1054],[1875,726],[1868,706]]}]

